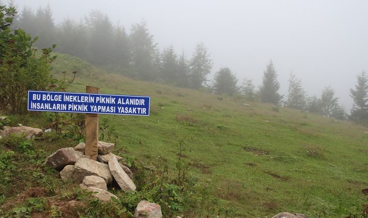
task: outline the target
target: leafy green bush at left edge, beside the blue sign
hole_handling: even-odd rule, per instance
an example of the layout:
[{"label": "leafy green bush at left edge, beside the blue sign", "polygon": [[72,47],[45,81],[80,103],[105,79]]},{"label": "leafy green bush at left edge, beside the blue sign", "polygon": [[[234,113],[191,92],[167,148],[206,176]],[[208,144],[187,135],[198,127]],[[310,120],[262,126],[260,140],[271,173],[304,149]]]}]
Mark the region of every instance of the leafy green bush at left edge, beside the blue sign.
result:
[{"label": "leafy green bush at left edge, beside the blue sign", "polygon": [[0,5],[0,109],[26,111],[28,90],[46,90],[51,84],[52,48],[32,47],[37,37],[22,29],[12,30],[15,8]]}]

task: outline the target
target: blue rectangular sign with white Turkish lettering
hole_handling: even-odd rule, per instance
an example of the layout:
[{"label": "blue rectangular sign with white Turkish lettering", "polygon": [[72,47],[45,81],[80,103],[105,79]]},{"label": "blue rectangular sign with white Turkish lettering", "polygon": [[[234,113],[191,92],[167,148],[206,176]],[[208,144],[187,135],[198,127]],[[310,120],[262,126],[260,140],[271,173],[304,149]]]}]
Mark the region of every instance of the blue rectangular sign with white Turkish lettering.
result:
[{"label": "blue rectangular sign with white Turkish lettering", "polygon": [[28,91],[28,110],[150,115],[150,96]]}]

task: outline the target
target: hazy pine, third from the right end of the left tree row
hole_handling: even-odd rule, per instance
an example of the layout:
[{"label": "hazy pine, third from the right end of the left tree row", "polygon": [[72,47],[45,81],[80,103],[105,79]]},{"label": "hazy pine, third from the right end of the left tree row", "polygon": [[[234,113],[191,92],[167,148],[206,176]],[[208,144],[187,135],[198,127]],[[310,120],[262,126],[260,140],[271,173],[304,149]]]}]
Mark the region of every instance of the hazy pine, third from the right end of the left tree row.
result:
[{"label": "hazy pine, third from the right end of the left tree row", "polygon": [[162,51],[161,75],[164,80],[174,82],[178,77],[178,56],[171,45]]}]

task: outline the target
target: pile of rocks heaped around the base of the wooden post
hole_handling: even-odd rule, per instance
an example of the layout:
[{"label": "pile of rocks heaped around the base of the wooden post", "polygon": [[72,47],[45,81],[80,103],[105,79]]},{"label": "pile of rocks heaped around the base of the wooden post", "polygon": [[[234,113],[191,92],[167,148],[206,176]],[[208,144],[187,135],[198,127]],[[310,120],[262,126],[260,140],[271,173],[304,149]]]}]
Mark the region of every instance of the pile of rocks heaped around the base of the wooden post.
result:
[{"label": "pile of rocks heaped around the base of the wooden post", "polygon": [[115,147],[113,143],[98,141],[97,161],[84,155],[86,145],[79,143],[74,148],[61,148],[50,155],[45,164],[60,171],[61,179],[73,179],[80,183],[80,187],[93,191],[100,201],[110,201],[115,195],[107,191],[107,185],[113,179],[123,191],[133,192],[136,186],[132,181],[133,173],[119,163],[121,156],[111,153]]}]

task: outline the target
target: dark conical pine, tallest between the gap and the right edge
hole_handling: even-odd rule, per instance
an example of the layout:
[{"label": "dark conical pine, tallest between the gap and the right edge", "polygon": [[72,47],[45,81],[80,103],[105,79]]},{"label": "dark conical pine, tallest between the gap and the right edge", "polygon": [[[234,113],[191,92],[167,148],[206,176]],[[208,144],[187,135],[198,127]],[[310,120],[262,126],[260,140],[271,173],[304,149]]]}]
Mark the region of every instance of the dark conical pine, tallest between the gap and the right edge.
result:
[{"label": "dark conical pine, tallest between the gap and the right edge", "polygon": [[282,96],[277,92],[280,89],[280,83],[277,81],[277,73],[272,60],[263,72],[263,81],[259,90],[262,102],[278,105]]}]

